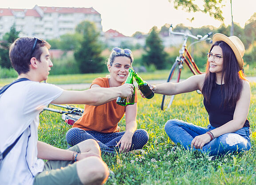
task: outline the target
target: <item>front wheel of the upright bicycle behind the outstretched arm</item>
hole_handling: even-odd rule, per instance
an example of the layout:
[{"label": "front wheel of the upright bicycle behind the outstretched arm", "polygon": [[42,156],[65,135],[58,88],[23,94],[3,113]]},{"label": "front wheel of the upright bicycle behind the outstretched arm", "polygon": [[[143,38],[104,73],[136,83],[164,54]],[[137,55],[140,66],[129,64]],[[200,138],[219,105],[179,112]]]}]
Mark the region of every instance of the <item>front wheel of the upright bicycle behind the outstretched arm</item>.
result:
[{"label": "front wheel of the upright bicycle behind the outstretched arm", "polygon": [[[172,65],[167,82],[170,82],[170,81],[171,82],[179,82],[180,81],[180,73],[181,73],[181,68],[179,65],[179,61],[175,61],[174,64]],[[172,96],[163,95],[161,110],[164,110],[164,108],[170,108],[170,106],[172,105],[174,96],[175,95],[172,95]]]}]

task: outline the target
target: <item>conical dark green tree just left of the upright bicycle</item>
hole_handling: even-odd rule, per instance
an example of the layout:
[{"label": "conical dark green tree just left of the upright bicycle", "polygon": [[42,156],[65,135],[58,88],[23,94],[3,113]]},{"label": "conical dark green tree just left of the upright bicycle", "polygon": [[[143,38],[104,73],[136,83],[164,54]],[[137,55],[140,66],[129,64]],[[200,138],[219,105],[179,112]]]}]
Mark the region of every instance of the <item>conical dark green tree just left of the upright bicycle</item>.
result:
[{"label": "conical dark green tree just left of the upright bicycle", "polygon": [[157,27],[151,29],[150,34],[146,38],[146,54],[142,55],[143,61],[147,65],[153,64],[156,69],[164,69],[167,53],[164,51],[162,40],[157,33]]}]

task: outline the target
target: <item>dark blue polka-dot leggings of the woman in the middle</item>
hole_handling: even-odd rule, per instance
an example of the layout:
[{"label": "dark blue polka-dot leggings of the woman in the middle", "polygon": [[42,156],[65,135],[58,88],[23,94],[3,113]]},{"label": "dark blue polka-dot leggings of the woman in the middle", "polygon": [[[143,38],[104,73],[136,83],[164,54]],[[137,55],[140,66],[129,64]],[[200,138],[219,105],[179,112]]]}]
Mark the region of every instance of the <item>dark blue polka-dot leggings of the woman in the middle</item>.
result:
[{"label": "dark blue polka-dot leggings of the woman in the middle", "polygon": [[[84,131],[81,128],[71,128],[66,134],[66,139],[69,145],[74,146],[86,139],[94,139],[100,145],[100,150],[102,152],[116,153],[119,151],[119,147],[116,143],[120,141],[125,131],[114,132],[110,134],[100,133],[97,131]],[[144,129],[138,129],[134,132],[132,136],[132,147],[131,150],[136,150],[142,148],[146,143],[148,143],[148,132]]]}]

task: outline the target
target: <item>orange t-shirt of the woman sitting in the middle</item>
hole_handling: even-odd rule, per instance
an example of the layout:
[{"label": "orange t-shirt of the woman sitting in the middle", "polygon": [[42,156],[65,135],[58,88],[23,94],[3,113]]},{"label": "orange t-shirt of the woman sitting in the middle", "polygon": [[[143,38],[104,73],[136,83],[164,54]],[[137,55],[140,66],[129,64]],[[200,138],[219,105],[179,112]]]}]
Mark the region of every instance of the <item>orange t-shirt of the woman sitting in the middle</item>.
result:
[{"label": "orange t-shirt of the woman sitting in the middle", "polygon": [[[108,78],[96,78],[92,81],[92,85],[94,84],[104,88],[109,87]],[[137,92],[135,92],[135,102],[137,102]],[[123,118],[124,112],[125,106],[116,104],[116,100],[98,106],[85,105],[83,115],[74,123],[73,127],[102,133],[118,132],[116,127]]]}]

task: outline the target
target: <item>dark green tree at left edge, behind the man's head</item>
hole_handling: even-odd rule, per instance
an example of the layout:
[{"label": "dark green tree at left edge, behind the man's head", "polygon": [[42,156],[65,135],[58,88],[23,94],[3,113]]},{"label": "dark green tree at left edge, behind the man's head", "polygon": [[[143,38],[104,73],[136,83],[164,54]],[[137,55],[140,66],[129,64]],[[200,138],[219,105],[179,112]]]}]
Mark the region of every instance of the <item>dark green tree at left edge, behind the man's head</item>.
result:
[{"label": "dark green tree at left edge, behind the man's head", "polygon": [[10,28],[10,32],[5,33],[3,40],[0,42],[0,66],[3,68],[12,68],[11,61],[9,59],[9,45],[19,38],[20,31],[16,31],[16,25],[13,24]]}]

